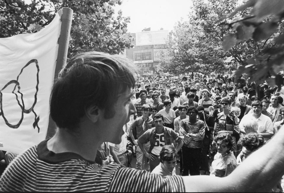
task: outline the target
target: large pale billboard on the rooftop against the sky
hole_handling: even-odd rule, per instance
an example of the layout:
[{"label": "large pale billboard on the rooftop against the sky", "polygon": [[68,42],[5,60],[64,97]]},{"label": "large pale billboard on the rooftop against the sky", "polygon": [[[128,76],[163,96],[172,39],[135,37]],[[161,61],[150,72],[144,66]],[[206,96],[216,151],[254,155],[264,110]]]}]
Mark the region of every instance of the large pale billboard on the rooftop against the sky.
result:
[{"label": "large pale billboard on the rooftop against the sky", "polygon": [[136,46],[166,44],[168,34],[168,30],[138,32],[135,38]]}]

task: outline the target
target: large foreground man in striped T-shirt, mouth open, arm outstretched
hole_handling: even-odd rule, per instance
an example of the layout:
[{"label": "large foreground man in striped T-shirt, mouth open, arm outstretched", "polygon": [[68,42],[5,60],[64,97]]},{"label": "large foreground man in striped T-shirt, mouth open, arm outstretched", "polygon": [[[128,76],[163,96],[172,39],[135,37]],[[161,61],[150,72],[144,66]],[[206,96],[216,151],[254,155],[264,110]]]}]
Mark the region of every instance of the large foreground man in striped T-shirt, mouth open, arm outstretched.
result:
[{"label": "large foreground man in striped T-shirt, mouth open, arm outstretched", "polygon": [[120,143],[123,125],[136,112],[132,63],[98,52],[70,59],[52,88],[50,113],[57,133],[7,166],[0,191],[268,192],[277,184],[284,174],[284,129],[224,178],[162,178],[96,163],[100,144]]}]

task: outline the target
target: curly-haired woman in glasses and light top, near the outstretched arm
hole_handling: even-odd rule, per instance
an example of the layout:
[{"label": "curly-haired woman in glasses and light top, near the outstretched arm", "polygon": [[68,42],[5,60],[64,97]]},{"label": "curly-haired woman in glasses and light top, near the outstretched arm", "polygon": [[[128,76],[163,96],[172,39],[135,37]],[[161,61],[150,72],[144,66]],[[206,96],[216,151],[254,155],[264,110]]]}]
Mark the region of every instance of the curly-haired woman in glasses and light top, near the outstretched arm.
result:
[{"label": "curly-haired woman in glasses and light top, near the outstretched arm", "polygon": [[232,146],[234,139],[224,131],[220,131],[213,141],[213,145],[217,150],[214,160],[211,164],[211,176],[225,177],[228,176],[237,167],[237,160],[233,154]]}]

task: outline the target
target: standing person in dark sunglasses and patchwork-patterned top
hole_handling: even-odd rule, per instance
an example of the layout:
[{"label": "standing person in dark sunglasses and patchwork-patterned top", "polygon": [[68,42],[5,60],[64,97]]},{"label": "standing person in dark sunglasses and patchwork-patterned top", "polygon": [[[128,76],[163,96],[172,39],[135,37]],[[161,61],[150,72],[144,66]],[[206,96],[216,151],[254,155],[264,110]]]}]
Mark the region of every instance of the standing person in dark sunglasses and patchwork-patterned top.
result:
[{"label": "standing person in dark sunglasses and patchwork-patterned top", "polygon": [[[231,99],[226,96],[221,99],[221,108],[223,112],[218,113],[215,120],[215,126],[213,131],[213,136],[219,131],[227,131],[235,140],[233,144],[233,150],[236,150],[236,138],[239,139],[240,129],[239,129],[239,119],[230,112]],[[235,152],[237,156],[237,152]]]}]

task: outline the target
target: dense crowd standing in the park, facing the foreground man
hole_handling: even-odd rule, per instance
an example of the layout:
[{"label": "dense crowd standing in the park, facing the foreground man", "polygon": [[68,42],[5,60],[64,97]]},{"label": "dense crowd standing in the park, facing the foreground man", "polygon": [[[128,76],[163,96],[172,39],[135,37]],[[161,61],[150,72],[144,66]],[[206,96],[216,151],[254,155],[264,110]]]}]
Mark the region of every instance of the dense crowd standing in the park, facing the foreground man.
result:
[{"label": "dense crowd standing in the park, facing the foreground man", "polygon": [[[136,168],[152,172],[160,164],[162,147],[172,144],[180,175],[229,175],[248,152],[269,141],[284,124],[281,89],[264,83],[259,90],[256,96],[255,83],[249,84],[242,76],[235,79],[217,75],[208,81],[202,76],[192,80],[185,75],[140,78],[132,98],[137,113],[128,123],[130,141],[137,146]],[[158,129],[161,124],[155,124],[156,119],[168,130]],[[140,125],[145,120],[148,128],[137,127],[138,120]],[[169,137],[169,128],[177,135]],[[166,142],[168,138],[171,140]],[[179,138],[182,145],[174,141]],[[246,149],[256,140],[262,141],[257,148]],[[210,157],[214,159],[211,172]],[[173,171],[173,167],[163,168]],[[280,185],[277,188],[282,191]]]}]

